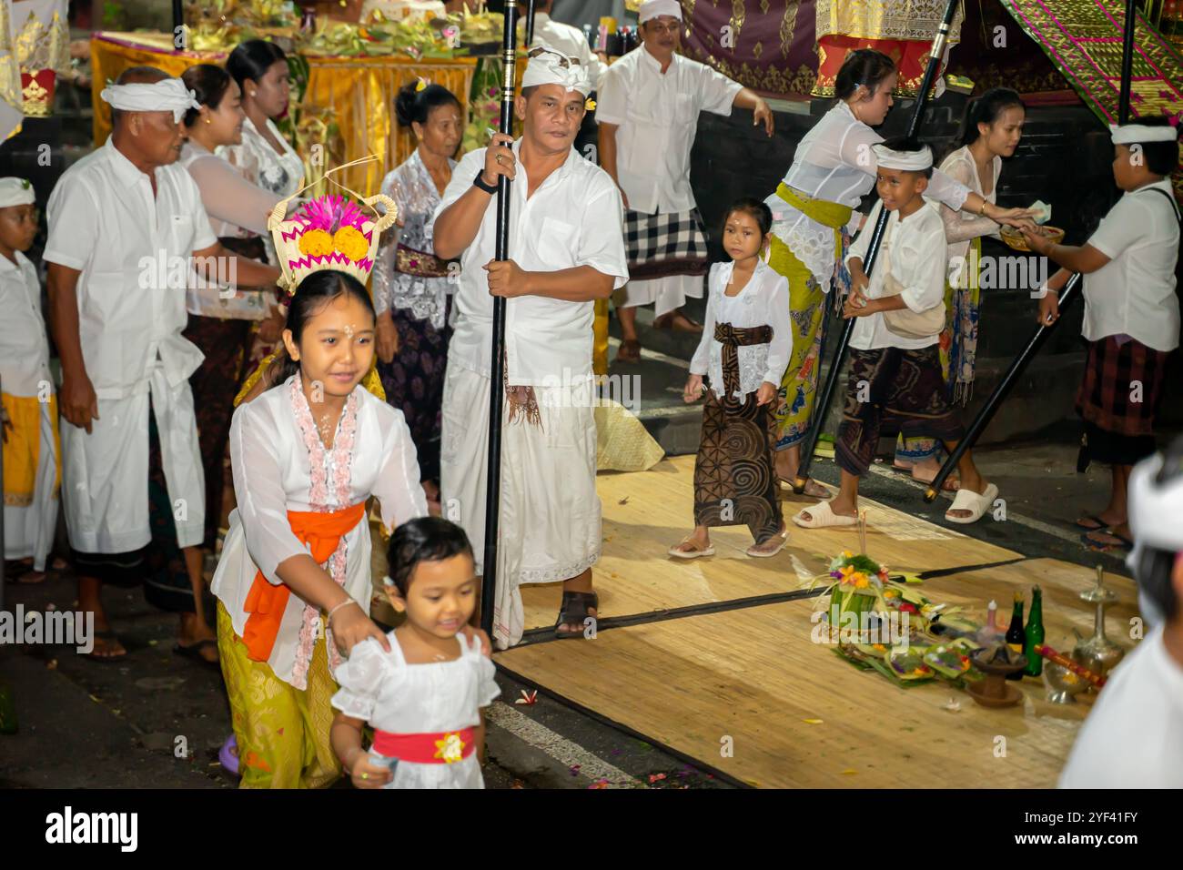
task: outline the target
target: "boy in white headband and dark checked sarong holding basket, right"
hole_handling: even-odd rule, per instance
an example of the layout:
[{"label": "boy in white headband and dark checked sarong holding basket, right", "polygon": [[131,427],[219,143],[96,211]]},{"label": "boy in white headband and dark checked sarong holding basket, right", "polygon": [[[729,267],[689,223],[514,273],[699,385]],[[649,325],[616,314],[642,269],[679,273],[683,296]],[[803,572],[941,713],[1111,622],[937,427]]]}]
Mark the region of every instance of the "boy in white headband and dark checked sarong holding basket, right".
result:
[{"label": "boy in white headband and dark checked sarong holding basket, right", "polygon": [[1170,174],[1178,166],[1178,130],[1166,118],[1112,127],[1113,179],[1125,195],[1080,247],[1053,245],[1027,231],[1028,246],[1064,266],[1040,299],[1039,321],[1060,316],[1058,292],[1073,272],[1085,282],[1084,336],[1088,342],[1077,412],[1085,434],[1078,468],[1112,466],[1104,510],[1077,521],[1094,548],[1129,549],[1126,484],[1134,463],[1155,451],[1155,413],[1166,360],[1179,344],[1175,268],[1179,208]]}]

